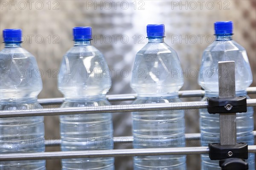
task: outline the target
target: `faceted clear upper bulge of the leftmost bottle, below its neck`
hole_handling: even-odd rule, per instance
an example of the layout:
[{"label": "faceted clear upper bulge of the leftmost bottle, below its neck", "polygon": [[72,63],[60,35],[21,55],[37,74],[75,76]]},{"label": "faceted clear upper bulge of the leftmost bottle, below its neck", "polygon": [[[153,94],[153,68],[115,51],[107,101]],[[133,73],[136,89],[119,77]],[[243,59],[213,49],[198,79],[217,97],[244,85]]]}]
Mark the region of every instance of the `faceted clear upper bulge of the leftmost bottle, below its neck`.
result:
[{"label": "faceted clear upper bulge of the leftmost bottle, below its neck", "polygon": [[35,98],[42,90],[42,73],[35,57],[24,48],[4,48],[0,52],[1,99]]}]

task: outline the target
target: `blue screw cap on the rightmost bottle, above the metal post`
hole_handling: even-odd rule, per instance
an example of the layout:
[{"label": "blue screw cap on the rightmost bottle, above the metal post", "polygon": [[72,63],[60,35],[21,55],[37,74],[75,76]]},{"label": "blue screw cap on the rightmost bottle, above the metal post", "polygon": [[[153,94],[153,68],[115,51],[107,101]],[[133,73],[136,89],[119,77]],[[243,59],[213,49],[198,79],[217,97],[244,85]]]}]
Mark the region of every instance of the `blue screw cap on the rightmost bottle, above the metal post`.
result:
[{"label": "blue screw cap on the rightmost bottle, above the metal post", "polygon": [[214,23],[215,34],[232,34],[233,22],[232,21],[218,21]]}]

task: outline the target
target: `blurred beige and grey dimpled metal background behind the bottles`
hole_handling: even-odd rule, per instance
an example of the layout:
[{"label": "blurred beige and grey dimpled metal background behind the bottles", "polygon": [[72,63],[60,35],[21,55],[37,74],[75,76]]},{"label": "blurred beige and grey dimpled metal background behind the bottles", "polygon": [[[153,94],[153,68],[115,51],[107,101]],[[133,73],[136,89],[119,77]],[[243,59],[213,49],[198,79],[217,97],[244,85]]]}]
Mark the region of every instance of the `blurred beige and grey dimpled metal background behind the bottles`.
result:
[{"label": "blurred beige and grey dimpled metal background behind the bottles", "polygon": [[[38,98],[62,96],[57,88],[58,68],[62,56],[73,45],[72,28],[75,26],[93,28],[92,44],[105,55],[112,71],[112,88],[108,94],[125,94],[134,93],[129,85],[131,69],[135,54],[147,43],[147,24],[165,24],[165,41],[177,51],[185,72],[181,90],[195,90],[200,89],[197,75],[189,71],[200,67],[202,52],[214,40],[213,23],[232,20],[233,39],[247,50],[253,71],[251,86],[256,86],[255,0],[0,0],[0,5],[0,30],[21,28],[23,47],[35,55],[42,69],[44,88]],[[0,34],[3,49],[2,32]],[[251,97],[256,98],[256,95]],[[198,101],[200,98],[182,100]],[[197,110],[186,111],[186,133],[199,132],[198,118]],[[113,113],[113,122],[114,136],[132,135],[129,113]],[[58,116],[45,117],[46,139],[59,138],[58,123]],[[199,142],[193,146],[199,146]],[[47,151],[57,150],[59,147],[47,147]],[[60,167],[60,160],[47,160],[48,170]],[[200,156],[188,156],[187,167],[199,169]],[[116,158],[116,169],[132,169],[132,158]]]}]

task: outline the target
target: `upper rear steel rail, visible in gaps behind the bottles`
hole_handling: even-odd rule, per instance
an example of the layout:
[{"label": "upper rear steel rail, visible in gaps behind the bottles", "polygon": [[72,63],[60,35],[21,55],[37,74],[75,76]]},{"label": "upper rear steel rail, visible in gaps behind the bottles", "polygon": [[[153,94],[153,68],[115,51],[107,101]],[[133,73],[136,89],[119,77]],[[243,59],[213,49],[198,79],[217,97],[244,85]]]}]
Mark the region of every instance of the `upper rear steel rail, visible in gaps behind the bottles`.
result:
[{"label": "upper rear steel rail, visible in gaps behind the bottles", "polygon": [[[201,97],[204,96],[205,92],[203,90],[188,90],[188,91],[179,91],[179,97]],[[256,87],[247,88],[247,94],[256,94]],[[137,94],[113,94],[107,95],[107,99],[110,102],[114,101],[125,101],[125,100],[135,100]],[[48,99],[38,99],[38,102],[41,105],[59,105],[63,102],[65,98],[48,98]]]}]

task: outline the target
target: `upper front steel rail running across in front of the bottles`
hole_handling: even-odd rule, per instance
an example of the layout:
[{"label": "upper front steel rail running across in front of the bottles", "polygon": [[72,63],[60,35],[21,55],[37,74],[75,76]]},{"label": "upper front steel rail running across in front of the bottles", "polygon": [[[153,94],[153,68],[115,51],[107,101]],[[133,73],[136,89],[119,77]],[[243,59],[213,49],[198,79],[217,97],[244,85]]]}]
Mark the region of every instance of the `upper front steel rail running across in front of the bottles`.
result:
[{"label": "upper front steel rail running across in front of the bottles", "polygon": [[[135,111],[194,110],[207,108],[207,102],[173,102],[156,104],[105,105],[74,108],[44,108],[25,111],[1,111],[0,118],[23,116],[53,116],[88,113],[117,113]],[[256,99],[247,99],[247,106],[256,106]]]}]

